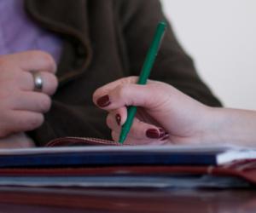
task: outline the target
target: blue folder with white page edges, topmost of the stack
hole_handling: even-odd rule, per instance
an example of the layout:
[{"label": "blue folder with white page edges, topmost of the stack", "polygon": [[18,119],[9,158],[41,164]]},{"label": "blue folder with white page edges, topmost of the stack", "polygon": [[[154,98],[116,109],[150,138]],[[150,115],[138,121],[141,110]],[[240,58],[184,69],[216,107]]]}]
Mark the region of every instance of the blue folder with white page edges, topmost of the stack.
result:
[{"label": "blue folder with white page edges, topmost of the stack", "polygon": [[[235,153],[234,153],[235,152]],[[238,152],[238,153],[237,153]],[[252,156],[256,152],[251,151]],[[235,147],[137,146],[0,149],[0,168],[109,165],[217,165],[248,152]],[[253,157],[253,158],[254,158]]]}]

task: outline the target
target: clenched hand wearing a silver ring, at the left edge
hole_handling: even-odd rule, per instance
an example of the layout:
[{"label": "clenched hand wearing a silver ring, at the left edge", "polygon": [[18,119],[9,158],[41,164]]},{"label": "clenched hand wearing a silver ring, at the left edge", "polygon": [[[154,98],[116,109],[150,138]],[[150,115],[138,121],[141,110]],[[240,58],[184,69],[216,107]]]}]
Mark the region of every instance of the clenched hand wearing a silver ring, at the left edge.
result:
[{"label": "clenched hand wearing a silver ring, at the left edge", "polygon": [[0,56],[0,141],[43,124],[57,88],[55,71],[43,51]]}]

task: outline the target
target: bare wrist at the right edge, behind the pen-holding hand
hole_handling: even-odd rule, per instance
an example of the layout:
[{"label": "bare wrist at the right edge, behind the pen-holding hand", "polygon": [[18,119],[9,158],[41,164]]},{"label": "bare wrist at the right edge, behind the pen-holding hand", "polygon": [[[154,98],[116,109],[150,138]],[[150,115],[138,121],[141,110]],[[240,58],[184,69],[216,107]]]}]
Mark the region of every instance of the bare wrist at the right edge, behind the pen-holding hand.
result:
[{"label": "bare wrist at the right edge, behind the pen-holding hand", "polygon": [[[256,113],[230,108],[209,108],[209,141],[218,144],[255,146]],[[212,122],[211,122],[212,121]]]}]

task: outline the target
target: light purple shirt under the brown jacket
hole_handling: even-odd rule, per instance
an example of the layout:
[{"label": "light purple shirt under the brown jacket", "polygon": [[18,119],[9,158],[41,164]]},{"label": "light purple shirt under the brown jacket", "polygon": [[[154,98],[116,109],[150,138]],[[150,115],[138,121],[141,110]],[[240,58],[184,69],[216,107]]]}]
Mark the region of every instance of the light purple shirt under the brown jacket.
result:
[{"label": "light purple shirt under the brown jacket", "polygon": [[58,61],[61,38],[38,27],[29,19],[23,5],[23,0],[0,0],[0,55],[37,49]]}]

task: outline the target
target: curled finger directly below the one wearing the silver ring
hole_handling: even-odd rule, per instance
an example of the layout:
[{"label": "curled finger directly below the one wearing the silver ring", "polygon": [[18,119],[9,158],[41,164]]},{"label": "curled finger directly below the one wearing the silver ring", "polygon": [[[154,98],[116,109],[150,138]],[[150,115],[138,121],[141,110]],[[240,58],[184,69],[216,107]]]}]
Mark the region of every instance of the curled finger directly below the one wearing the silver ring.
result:
[{"label": "curled finger directly below the one wearing the silver ring", "polygon": [[48,112],[51,106],[49,95],[38,92],[20,92],[11,100],[12,109],[32,112]]}]

